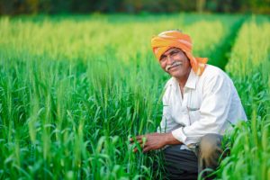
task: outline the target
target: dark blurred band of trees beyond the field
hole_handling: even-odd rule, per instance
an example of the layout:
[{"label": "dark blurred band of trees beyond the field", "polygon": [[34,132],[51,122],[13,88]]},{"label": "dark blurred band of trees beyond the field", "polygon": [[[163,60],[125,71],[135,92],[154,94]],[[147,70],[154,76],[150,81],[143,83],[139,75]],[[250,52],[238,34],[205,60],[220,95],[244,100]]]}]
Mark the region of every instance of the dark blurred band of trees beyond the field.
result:
[{"label": "dark blurred band of trees beyond the field", "polygon": [[270,0],[0,0],[0,14],[203,11],[270,14]]}]

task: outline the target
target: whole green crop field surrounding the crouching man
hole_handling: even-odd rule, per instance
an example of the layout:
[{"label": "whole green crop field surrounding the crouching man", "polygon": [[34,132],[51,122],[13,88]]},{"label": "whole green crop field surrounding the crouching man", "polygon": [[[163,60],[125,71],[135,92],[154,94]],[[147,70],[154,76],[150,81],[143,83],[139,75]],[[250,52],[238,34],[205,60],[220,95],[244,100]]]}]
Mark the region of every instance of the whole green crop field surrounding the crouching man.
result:
[{"label": "whole green crop field surrounding the crouching man", "polygon": [[269,179],[270,19],[240,14],[0,17],[0,179],[162,179],[160,153],[129,138],[157,130],[169,76],[150,39],[174,29],[247,113],[217,178]]}]

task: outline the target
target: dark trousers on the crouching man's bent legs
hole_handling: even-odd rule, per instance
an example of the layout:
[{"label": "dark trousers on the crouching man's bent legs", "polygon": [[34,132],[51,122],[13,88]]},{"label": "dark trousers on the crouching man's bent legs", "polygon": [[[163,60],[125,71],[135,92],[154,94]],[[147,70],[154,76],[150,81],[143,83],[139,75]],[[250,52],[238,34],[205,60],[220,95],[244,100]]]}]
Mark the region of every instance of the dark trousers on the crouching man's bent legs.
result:
[{"label": "dark trousers on the crouching man's bent legs", "polygon": [[182,145],[169,146],[163,150],[166,179],[197,179],[202,172],[204,179],[212,179],[207,169],[215,170],[219,166],[222,136],[206,134],[195,149],[180,149]]}]

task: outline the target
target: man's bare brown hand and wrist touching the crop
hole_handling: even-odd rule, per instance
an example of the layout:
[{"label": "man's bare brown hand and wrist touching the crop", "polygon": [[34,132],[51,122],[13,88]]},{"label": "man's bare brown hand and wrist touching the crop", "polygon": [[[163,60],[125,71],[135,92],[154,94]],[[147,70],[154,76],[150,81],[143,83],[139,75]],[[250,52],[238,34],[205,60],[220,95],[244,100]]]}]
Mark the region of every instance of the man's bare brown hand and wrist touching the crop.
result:
[{"label": "man's bare brown hand and wrist touching the crop", "polygon": [[[181,142],[175,139],[172,133],[150,133],[137,136],[136,139],[130,139],[130,143],[139,142],[143,152],[163,148],[166,144],[180,144]],[[133,152],[137,152],[138,148],[134,148]]]}]

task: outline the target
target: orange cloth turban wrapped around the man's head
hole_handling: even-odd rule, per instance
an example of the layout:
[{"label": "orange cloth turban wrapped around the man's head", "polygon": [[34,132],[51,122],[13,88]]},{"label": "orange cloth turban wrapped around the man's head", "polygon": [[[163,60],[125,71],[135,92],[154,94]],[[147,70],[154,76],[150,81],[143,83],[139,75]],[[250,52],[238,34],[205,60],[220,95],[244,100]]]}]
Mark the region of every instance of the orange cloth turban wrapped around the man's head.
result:
[{"label": "orange cloth turban wrapped around the man's head", "polygon": [[196,75],[201,76],[208,58],[194,58],[192,54],[193,44],[189,35],[181,31],[163,31],[151,40],[151,46],[156,58],[170,48],[179,48],[184,51]]}]

